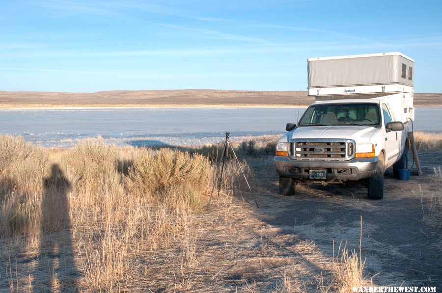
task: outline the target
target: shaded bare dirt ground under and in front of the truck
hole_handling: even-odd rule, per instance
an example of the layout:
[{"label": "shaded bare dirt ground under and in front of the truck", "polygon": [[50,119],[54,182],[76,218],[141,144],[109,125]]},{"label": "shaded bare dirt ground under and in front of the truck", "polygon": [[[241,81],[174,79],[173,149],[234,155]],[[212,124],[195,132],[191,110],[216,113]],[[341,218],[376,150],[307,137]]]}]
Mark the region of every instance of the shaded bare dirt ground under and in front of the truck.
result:
[{"label": "shaded bare dirt ground under and in front of the truck", "polygon": [[[399,181],[389,168],[385,197],[377,201],[368,200],[366,188],[360,185],[300,185],[294,196],[278,195],[277,175],[269,159],[266,167],[254,167],[264,193],[258,198],[260,208],[254,208],[253,216],[263,225],[256,233],[279,246],[278,253],[289,256],[292,251],[294,260],[304,255],[300,263],[307,266],[307,271],[327,275],[327,265],[321,264],[332,258],[333,241],[335,254],[341,242],[359,251],[362,216],[361,251],[366,259],[366,277],[373,276],[373,283],[380,286],[406,284],[441,290],[442,230],[437,223],[439,228],[424,221],[424,214],[428,213],[430,198],[441,196],[441,186],[433,177],[434,168],[442,164],[442,153],[421,152],[419,159],[423,176],[417,176],[414,168],[409,181]],[[312,247],[296,251],[303,240]],[[310,251],[317,255],[306,263],[305,255]],[[318,255],[323,256],[323,262]],[[314,280],[310,277],[305,281],[304,285],[313,289]]]}]

